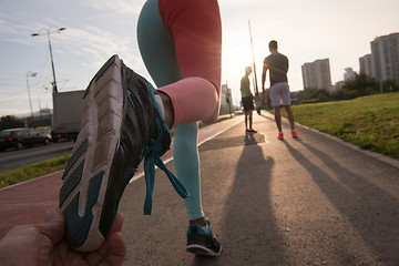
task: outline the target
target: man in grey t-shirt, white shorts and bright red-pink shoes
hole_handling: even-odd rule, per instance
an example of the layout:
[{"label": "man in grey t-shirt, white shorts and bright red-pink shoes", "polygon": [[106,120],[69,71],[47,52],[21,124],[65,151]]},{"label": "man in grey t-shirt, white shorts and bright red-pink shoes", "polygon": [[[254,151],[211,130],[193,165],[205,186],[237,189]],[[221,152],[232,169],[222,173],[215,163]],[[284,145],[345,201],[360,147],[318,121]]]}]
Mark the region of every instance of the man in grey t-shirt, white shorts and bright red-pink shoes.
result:
[{"label": "man in grey t-shirt, white shorts and bright red-pink shoes", "polygon": [[269,51],[272,54],[264,60],[264,68],[262,72],[262,89],[265,90],[266,72],[267,70],[269,70],[269,93],[272,99],[272,106],[274,108],[275,112],[275,121],[278,129],[278,140],[284,140],[280,114],[282,104],[288,115],[288,121],[291,129],[291,136],[298,137],[298,133],[295,131],[294,114],[290,109],[290,94],[287,79],[288,58],[277,51],[276,41],[269,42]]}]

